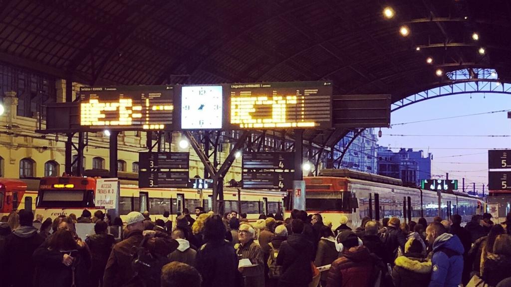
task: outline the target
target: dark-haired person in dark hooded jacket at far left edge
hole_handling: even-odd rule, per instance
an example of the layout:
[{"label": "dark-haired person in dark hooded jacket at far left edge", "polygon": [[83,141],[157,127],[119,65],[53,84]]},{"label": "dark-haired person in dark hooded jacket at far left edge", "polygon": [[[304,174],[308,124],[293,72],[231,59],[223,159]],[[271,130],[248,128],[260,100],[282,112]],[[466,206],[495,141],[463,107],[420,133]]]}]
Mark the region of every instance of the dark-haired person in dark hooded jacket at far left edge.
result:
[{"label": "dark-haired person in dark hooded jacket at far left edge", "polygon": [[32,254],[44,242],[44,239],[37,233],[37,228],[32,226],[34,221],[32,211],[21,209],[17,215],[19,216],[19,227],[5,238],[5,255],[0,258],[9,274],[2,278],[2,285],[8,287],[32,286],[35,274]]}]

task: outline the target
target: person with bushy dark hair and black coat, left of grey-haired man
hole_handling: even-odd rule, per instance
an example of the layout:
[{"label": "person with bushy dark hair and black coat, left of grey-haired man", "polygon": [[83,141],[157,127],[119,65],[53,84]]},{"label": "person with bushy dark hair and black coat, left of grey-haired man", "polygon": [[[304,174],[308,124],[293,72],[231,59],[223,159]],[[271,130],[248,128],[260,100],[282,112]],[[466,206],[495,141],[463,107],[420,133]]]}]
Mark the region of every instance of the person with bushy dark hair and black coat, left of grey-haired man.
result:
[{"label": "person with bushy dark hair and black coat, left of grey-haired man", "polygon": [[202,276],[202,287],[236,287],[241,276],[238,272],[238,256],[225,241],[225,226],[218,215],[204,222],[204,238],[195,256],[195,268]]}]

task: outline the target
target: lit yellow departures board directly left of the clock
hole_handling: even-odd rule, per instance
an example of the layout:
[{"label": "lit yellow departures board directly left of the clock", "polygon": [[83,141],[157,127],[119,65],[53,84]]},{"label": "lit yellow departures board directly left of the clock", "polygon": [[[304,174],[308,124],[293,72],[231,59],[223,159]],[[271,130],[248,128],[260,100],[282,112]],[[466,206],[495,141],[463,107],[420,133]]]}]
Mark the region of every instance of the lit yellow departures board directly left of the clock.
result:
[{"label": "lit yellow departures board directly left of the clock", "polygon": [[81,87],[80,125],[91,129],[173,129],[173,86]]}]

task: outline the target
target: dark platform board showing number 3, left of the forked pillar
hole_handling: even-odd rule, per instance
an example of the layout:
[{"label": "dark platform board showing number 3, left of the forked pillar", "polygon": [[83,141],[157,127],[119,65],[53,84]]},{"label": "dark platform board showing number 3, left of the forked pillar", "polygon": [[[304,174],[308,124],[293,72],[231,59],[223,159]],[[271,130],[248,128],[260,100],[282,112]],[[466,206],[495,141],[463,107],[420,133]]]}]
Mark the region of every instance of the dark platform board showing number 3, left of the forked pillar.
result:
[{"label": "dark platform board showing number 3, left of the forked pillar", "polygon": [[187,187],[190,153],[138,153],[138,187]]}]

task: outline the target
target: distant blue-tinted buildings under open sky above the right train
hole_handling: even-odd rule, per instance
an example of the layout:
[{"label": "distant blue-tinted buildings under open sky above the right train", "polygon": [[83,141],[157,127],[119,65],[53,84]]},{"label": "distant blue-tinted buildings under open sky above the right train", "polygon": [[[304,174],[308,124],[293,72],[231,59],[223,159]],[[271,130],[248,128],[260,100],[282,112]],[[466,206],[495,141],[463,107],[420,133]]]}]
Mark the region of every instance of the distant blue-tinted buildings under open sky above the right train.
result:
[{"label": "distant blue-tinted buildings under open sky above the right train", "polygon": [[401,149],[393,152],[386,147],[378,147],[378,174],[419,186],[421,179],[431,178],[432,159],[431,153],[425,156],[422,150]]}]

